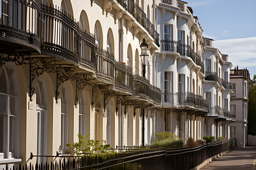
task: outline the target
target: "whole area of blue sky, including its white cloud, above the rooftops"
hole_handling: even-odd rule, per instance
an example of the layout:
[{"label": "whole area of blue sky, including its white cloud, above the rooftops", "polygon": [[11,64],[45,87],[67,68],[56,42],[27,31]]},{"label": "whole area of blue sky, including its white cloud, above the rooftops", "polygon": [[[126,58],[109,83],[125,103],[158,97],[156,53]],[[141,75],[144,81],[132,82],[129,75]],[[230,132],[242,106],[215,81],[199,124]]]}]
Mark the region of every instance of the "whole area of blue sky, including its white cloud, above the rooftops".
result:
[{"label": "whole area of blue sky, including its white cloud, above the rooftops", "polygon": [[187,0],[198,16],[204,37],[214,39],[214,47],[229,55],[240,69],[256,74],[256,0]]}]

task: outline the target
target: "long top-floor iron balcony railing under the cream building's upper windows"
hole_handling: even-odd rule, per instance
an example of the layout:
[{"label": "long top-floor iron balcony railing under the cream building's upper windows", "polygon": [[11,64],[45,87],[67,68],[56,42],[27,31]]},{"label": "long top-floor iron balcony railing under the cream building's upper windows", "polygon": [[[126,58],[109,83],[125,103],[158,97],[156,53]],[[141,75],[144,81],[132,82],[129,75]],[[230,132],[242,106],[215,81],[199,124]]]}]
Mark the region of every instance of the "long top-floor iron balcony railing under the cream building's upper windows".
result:
[{"label": "long top-floor iron balcony railing under the cream building's upper windows", "polygon": [[156,45],[159,45],[159,34],[155,31],[155,26],[147,19],[147,15],[133,0],[117,0],[117,2],[123,6],[139,24],[144,27],[150,36],[154,39]]}]

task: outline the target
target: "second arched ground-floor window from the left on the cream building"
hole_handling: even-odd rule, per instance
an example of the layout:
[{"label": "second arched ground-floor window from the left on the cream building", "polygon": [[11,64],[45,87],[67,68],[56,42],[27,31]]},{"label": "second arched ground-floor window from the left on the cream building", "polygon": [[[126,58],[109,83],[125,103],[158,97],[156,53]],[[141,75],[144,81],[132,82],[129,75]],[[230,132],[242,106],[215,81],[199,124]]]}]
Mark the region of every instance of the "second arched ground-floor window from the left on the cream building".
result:
[{"label": "second arched ground-floor window from the left on the cream building", "polygon": [[[47,129],[48,129],[48,90],[43,76],[36,81],[36,154],[47,155]],[[46,162],[46,158],[38,158],[38,163]]]}]

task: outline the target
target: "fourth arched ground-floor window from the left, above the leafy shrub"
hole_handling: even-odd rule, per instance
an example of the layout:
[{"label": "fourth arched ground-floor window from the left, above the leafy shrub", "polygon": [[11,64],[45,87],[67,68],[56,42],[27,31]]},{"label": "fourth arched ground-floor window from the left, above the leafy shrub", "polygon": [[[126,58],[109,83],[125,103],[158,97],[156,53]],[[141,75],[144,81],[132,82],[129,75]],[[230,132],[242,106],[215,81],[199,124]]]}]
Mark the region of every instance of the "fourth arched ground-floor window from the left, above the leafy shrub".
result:
[{"label": "fourth arched ground-floor window from the left, above the leafy shrub", "polygon": [[86,97],[82,91],[79,97],[79,134],[86,137]]}]

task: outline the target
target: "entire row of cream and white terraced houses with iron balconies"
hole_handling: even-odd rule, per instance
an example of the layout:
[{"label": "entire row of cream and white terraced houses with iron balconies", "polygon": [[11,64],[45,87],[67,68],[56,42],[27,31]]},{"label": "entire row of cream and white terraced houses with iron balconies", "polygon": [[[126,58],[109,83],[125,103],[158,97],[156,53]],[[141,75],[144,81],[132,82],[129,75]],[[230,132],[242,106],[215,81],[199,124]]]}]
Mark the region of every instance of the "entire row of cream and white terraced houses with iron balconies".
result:
[{"label": "entire row of cream and white terraced houses with iron balconies", "polygon": [[[113,148],[150,145],[160,131],[184,140],[229,137],[233,119],[214,125],[220,116],[210,117],[208,84],[224,96],[220,107],[232,91],[205,79],[205,61],[218,59],[228,75],[232,64],[217,49],[207,56],[211,45],[187,2],[0,4],[0,169],[36,163],[31,152],[72,155],[66,145],[78,133]],[[53,158],[37,159],[46,160]]]}]

